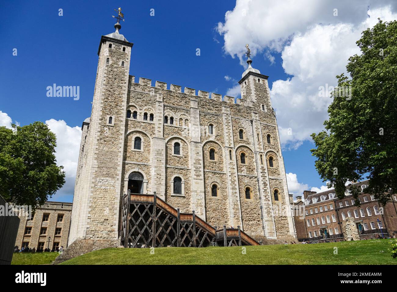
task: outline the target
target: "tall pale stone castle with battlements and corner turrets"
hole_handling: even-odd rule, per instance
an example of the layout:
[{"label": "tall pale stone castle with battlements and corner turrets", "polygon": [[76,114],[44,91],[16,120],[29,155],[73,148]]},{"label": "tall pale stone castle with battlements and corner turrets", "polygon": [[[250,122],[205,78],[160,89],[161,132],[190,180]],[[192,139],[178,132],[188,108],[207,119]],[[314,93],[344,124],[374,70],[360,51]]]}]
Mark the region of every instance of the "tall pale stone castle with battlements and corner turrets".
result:
[{"label": "tall pale stone castle with battlements and corner turrets", "polygon": [[[241,99],[129,75],[133,43],[102,36],[91,117],[83,122],[69,245],[117,244],[121,198],[154,193],[212,226],[294,237],[268,76],[252,68]],[[132,68],[135,71],[135,68]]]}]

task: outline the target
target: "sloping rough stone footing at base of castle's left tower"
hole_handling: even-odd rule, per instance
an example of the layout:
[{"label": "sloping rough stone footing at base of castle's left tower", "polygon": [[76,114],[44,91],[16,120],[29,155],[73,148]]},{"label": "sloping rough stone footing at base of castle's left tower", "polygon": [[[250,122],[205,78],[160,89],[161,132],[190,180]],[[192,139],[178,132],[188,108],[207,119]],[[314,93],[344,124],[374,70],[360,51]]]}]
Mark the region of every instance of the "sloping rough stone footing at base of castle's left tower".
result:
[{"label": "sloping rough stone footing at base of castle's left tower", "polygon": [[56,265],[62,263],[73,257],[89,253],[90,251],[102,248],[117,248],[119,246],[120,242],[118,240],[77,239],[64,250],[64,253],[58,255],[52,264]]}]

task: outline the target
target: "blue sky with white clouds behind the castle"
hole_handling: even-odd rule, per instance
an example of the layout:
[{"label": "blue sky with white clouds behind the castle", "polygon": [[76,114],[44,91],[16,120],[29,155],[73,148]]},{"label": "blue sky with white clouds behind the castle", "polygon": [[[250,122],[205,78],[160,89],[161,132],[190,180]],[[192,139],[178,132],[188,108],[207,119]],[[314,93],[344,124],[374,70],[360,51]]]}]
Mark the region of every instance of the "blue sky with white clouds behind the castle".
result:
[{"label": "blue sky with white clouds behind the castle", "polygon": [[[314,168],[315,159],[310,153],[314,145],[308,135],[322,129],[331,101],[327,98],[317,102],[310,96],[315,98],[318,86],[328,81],[334,85],[335,75],[345,70],[348,56],[357,51],[354,42],[368,14],[372,19],[377,15],[395,17],[395,8],[387,6],[388,1],[381,1],[382,5],[377,6],[375,12],[367,12],[372,6],[371,1],[366,2],[355,3],[360,9],[347,7],[349,4],[343,1],[333,4],[339,8],[339,18],[330,16],[333,6],[328,4],[321,4],[320,8],[306,7],[311,9],[306,11],[306,22],[299,17],[291,19],[288,14],[299,13],[303,9],[301,6],[280,10],[273,2],[258,1],[5,2],[0,11],[0,31],[4,40],[0,46],[3,125],[10,124],[10,120],[21,125],[49,121],[50,128],[58,135],[58,162],[66,164],[69,172],[67,185],[52,200],[72,201],[77,153],[74,148],[79,144],[78,127],[91,114],[100,37],[114,31],[115,19],[111,15],[115,8],[121,7],[125,22],[121,23],[120,33],[134,43],[130,75],[135,75],[136,79],[152,79],[153,84],[158,80],[197,91],[235,93],[246,65],[240,58],[245,43],[250,43],[254,52],[252,66],[270,76],[268,81],[278,114],[285,169],[287,173],[296,174],[297,179],[291,182],[290,193],[299,195],[304,188],[320,188],[324,183]],[[272,5],[280,15],[268,14]],[[60,8],[63,16],[58,15]],[[150,16],[150,9],[154,9],[154,16]],[[225,19],[227,11],[230,13]],[[353,16],[349,14],[352,11]],[[244,15],[247,12],[248,16]],[[310,18],[310,13],[316,16]],[[240,15],[244,15],[243,19]],[[276,21],[280,24],[272,26]],[[285,24],[281,24],[283,21]],[[299,21],[299,25],[294,21]],[[346,29],[345,34],[340,33],[343,29]],[[333,56],[321,52],[316,33],[324,35],[327,31],[331,35],[335,33],[335,37],[351,39],[347,41],[351,50],[343,56],[337,48]],[[307,48],[302,44],[304,41]],[[14,48],[17,56],[13,56]],[[200,56],[196,55],[197,48],[200,48]],[[288,50],[292,50],[293,58]],[[314,50],[313,60],[306,60],[311,58],[305,55],[308,50]],[[319,57],[315,56],[317,53]],[[335,56],[340,56],[339,65],[328,66],[335,64],[331,58]],[[305,66],[302,60],[310,66]],[[312,73],[312,67],[318,70]],[[324,75],[322,70],[328,75],[313,79],[313,75]],[[79,100],[47,97],[46,87],[53,83],[79,86]],[[309,89],[312,92],[308,93]],[[305,103],[313,107],[305,106],[303,112]],[[286,136],[287,128],[292,128],[294,135]]]}]

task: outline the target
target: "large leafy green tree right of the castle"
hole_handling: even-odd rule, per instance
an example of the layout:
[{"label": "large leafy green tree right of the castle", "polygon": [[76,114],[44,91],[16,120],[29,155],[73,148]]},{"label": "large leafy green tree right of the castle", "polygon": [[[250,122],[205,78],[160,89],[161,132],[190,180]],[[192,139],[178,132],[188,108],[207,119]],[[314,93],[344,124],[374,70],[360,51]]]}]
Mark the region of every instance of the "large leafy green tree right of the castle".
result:
[{"label": "large leafy green tree right of the castle", "polygon": [[[346,66],[351,78],[337,76],[339,89],[351,88],[351,96],[335,89],[327,131],[311,135],[317,147],[311,152],[321,178],[339,198],[345,182],[368,178],[366,191],[384,204],[397,192],[397,21],[379,19],[357,45],[362,54],[351,56]],[[350,190],[357,198],[360,190]]]}]

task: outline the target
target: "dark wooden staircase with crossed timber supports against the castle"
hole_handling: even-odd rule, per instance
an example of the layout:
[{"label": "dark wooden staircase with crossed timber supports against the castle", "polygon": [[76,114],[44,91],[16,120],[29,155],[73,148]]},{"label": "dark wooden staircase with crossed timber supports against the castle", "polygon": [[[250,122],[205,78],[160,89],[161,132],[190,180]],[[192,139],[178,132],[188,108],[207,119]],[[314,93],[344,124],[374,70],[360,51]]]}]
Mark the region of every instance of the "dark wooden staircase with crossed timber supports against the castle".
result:
[{"label": "dark wooden staircase with crossed timber supports against the castle", "polygon": [[123,196],[121,245],[141,247],[207,247],[260,245],[238,228],[216,229],[193,213],[180,213],[154,194]]}]

